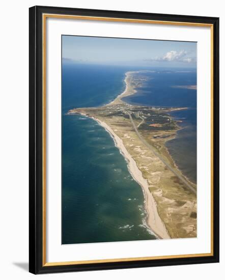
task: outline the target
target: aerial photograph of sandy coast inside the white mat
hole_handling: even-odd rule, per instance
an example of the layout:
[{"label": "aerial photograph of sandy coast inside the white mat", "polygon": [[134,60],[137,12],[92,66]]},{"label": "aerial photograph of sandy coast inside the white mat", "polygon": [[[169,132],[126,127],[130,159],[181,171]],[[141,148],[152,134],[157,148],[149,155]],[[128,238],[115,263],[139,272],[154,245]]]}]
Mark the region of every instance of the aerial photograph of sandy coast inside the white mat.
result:
[{"label": "aerial photograph of sandy coast inside the white mat", "polygon": [[62,244],[197,237],[196,47],[62,35]]}]

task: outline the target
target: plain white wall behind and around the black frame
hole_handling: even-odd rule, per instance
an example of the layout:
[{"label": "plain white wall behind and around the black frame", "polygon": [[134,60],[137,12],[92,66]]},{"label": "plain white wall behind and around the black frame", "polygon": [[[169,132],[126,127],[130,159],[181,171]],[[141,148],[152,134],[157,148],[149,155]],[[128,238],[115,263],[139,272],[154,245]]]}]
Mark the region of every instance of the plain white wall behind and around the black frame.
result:
[{"label": "plain white wall behind and around the black frame", "polygon": [[[46,274],[28,272],[28,53],[29,7],[34,5],[137,11],[150,13],[187,14],[220,17],[220,142],[224,141],[225,119],[225,5],[214,0],[30,0],[1,3],[0,44],[0,274],[2,279],[136,279],[141,277],[166,280],[222,279],[225,273],[224,161],[220,161],[220,263],[139,269]],[[220,158],[225,156],[224,145]]]}]

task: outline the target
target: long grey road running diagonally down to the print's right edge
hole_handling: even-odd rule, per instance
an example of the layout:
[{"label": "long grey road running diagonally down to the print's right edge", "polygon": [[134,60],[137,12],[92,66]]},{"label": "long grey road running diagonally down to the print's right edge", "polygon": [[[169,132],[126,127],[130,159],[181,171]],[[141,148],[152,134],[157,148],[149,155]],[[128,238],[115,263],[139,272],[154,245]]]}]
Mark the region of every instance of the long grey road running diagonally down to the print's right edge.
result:
[{"label": "long grey road running diagonally down to the print's right edge", "polygon": [[163,159],[163,157],[157,152],[157,151],[155,151],[155,148],[151,145],[151,144],[149,144],[143,137],[142,137],[142,135],[140,135],[140,133],[138,132],[138,130],[137,130],[137,128],[136,128],[136,125],[135,125],[135,123],[134,123],[134,121],[133,121],[133,119],[132,119],[132,117],[131,117],[131,115],[130,115],[130,113],[128,112],[128,111],[126,111],[125,112],[126,114],[128,114],[129,115],[129,118],[130,118],[130,121],[131,121],[131,123],[132,123],[132,126],[133,126],[133,128],[134,128],[134,130],[135,130],[135,132],[136,132],[136,134],[137,134],[137,136],[138,136],[138,138],[140,139],[140,141],[142,141],[142,143],[147,147],[147,148],[149,148],[153,153],[154,153],[154,155],[155,156],[157,156],[165,165],[166,165],[166,167],[170,170],[170,171],[172,171],[173,173],[174,173],[174,175],[176,175],[193,193],[195,193],[196,194],[196,189],[194,188],[194,187],[192,187],[188,182],[187,182],[187,180],[185,180],[185,178],[183,178],[168,162],[166,162],[164,159]]}]

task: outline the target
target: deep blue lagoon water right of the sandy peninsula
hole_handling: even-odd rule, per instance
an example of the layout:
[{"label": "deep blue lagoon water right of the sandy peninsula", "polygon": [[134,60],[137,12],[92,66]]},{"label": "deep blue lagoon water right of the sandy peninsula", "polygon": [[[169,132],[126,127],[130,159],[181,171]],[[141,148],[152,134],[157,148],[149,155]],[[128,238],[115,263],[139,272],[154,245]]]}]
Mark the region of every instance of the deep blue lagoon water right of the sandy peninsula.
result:
[{"label": "deep blue lagoon water right of the sandy peninsula", "polygon": [[[142,76],[142,73],[137,74]],[[175,163],[185,176],[196,183],[196,90],[176,88],[176,86],[196,85],[195,70],[160,70],[145,73],[149,79],[133,96],[124,98],[131,104],[145,104],[165,107],[188,107],[174,111],[170,115],[182,121],[183,128],[175,139],[166,142]]]}]

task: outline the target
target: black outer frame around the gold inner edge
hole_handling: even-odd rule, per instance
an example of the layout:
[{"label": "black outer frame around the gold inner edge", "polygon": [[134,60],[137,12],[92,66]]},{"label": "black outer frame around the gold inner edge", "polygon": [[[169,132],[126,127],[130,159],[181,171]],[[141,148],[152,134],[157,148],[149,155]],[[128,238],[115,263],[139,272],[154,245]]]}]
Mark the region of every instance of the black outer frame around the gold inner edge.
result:
[{"label": "black outer frame around the gold inner edge", "polygon": [[[219,262],[219,18],[35,6],[29,19],[30,203],[29,271],[34,274]],[[210,24],[213,29],[213,254],[185,258],[44,265],[43,254],[43,14]]]}]

